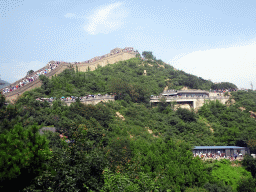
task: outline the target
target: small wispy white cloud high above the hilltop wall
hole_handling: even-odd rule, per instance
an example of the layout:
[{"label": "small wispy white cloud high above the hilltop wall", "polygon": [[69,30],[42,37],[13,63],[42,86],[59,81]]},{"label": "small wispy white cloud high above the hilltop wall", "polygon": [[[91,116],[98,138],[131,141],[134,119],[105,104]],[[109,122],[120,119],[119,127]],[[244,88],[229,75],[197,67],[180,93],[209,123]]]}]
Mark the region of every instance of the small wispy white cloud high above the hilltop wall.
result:
[{"label": "small wispy white cloud high above the hilltop wall", "polygon": [[89,22],[84,26],[85,31],[91,35],[98,33],[110,33],[119,29],[123,24],[127,12],[121,8],[123,3],[116,2],[96,10],[91,16],[87,17]]}]

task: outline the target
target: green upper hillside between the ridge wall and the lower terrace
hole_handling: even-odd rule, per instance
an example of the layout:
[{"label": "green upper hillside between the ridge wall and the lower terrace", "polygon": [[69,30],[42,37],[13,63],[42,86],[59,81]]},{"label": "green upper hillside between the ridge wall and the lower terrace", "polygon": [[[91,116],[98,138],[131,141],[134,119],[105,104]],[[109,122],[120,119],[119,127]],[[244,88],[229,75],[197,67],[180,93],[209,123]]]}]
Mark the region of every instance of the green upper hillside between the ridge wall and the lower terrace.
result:
[{"label": "green upper hillside between the ridge wall and the lower terrace", "polygon": [[[146,70],[146,75],[143,75]],[[226,89],[237,88],[232,83],[213,84],[211,81],[175,70],[161,60],[143,61],[133,58],[95,71],[77,72],[76,68],[67,69],[58,77],[47,80],[42,76],[44,86],[34,91],[43,96],[84,96],[90,94],[117,93],[126,101],[146,102],[150,95],[158,95],[166,86],[169,89]],[[133,94],[132,92],[137,94]],[[126,96],[124,96],[126,94]]]}]

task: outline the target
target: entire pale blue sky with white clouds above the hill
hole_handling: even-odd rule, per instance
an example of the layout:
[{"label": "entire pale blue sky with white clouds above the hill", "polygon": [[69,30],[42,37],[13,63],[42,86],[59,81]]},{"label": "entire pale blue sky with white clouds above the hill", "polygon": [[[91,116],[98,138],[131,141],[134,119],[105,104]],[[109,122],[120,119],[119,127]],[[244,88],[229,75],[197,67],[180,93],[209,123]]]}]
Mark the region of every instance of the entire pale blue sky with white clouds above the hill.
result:
[{"label": "entire pale blue sky with white clouds above the hill", "polygon": [[204,79],[239,88],[252,81],[255,89],[255,10],[253,0],[1,1],[1,79],[134,47]]}]

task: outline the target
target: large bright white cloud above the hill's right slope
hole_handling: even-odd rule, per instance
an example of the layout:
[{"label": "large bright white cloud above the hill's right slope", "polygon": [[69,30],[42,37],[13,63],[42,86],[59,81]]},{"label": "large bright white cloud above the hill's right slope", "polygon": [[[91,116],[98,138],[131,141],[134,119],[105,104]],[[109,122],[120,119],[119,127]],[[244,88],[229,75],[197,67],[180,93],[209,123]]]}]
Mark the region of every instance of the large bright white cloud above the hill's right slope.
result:
[{"label": "large bright white cloud above the hill's right slope", "polygon": [[211,79],[228,81],[238,87],[256,85],[256,43],[243,46],[196,51],[180,55],[169,61],[175,68],[187,73]]}]

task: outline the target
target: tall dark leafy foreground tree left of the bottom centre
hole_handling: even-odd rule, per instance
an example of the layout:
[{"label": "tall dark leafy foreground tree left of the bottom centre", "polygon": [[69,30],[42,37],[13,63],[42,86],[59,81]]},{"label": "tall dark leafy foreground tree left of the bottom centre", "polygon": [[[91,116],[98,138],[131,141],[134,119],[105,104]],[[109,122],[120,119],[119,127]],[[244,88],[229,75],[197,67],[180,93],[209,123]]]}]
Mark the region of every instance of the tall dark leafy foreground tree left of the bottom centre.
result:
[{"label": "tall dark leafy foreground tree left of the bottom centre", "polygon": [[[46,170],[36,177],[26,191],[99,191],[104,184],[102,172],[106,167],[103,136],[89,124],[89,121],[80,125],[71,123],[69,142],[65,137],[60,139],[52,134],[51,143],[58,144],[53,146],[53,156],[48,160],[52,171]],[[97,134],[98,142],[90,139],[93,134]]]}]

